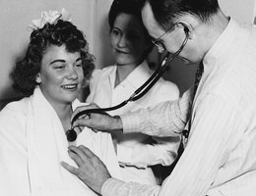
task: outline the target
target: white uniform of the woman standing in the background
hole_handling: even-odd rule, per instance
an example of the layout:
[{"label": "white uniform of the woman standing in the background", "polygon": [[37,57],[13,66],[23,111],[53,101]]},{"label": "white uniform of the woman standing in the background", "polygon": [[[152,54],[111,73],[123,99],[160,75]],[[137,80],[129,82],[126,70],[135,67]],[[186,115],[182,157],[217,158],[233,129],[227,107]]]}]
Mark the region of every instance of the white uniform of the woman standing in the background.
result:
[{"label": "white uniform of the woman standing in the background", "polygon": [[[139,88],[151,75],[148,64],[143,62],[132,73],[119,83],[115,83],[117,66],[109,66],[103,70],[96,70],[90,81],[91,94],[87,102],[95,102],[101,108],[115,106],[127,98]],[[155,106],[160,102],[175,100],[179,97],[179,91],[174,83],[160,79],[155,86],[136,102],[130,102],[126,106],[109,112],[110,115],[120,115],[140,108]],[[157,138],[157,142],[151,145],[147,140],[150,137],[145,134],[120,134],[115,135],[117,140],[117,157],[124,179],[147,184],[156,184],[155,175],[148,166],[161,164],[169,166],[176,157],[179,145],[179,137]],[[127,167],[128,166],[128,167]],[[137,168],[140,168],[139,170]]]}]

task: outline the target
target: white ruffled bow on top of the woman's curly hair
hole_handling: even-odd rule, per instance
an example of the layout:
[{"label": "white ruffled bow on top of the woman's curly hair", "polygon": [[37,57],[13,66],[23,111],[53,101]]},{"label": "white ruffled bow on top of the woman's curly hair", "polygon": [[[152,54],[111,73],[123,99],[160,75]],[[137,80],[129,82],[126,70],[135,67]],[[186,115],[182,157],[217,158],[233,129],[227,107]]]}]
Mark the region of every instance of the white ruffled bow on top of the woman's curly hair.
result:
[{"label": "white ruffled bow on top of the woman's curly hair", "polygon": [[54,25],[58,22],[58,20],[71,22],[71,15],[65,8],[62,8],[61,12],[56,10],[49,11],[48,13],[43,11],[41,12],[41,18],[32,20],[32,25],[29,25],[29,29],[35,30],[38,28],[42,28],[43,25],[49,23],[50,25]]}]

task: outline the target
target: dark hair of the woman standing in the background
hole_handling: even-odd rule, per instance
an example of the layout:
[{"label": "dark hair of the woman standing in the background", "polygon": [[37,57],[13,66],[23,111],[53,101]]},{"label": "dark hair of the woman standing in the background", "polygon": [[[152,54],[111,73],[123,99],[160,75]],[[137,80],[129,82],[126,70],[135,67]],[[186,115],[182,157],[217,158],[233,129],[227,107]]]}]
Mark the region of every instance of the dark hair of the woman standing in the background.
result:
[{"label": "dark hair of the woman standing in the background", "polygon": [[[114,22],[118,15],[122,13],[132,15],[140,21],[141,25],[144,28],[145,36],[149,40],[149,43],[151,43],[151,37],[142,22],[141,10],[144,6],[144,3],[145,0],[114,0],[108,13],[108,25],[110,27],[110,30],[113,28]],[[151,52],[152,48],[153,44],[151,43],[151,47],[146,52],[146,56]]]}]

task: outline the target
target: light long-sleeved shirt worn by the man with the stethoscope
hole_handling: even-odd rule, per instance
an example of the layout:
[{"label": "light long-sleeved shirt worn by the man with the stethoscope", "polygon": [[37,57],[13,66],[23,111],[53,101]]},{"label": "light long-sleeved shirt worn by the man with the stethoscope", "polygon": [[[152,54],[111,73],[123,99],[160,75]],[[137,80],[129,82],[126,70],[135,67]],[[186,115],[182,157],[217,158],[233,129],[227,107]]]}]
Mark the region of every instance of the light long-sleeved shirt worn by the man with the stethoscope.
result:
[{"label": "light long-sleeved shirt worn by the man with the stethoscope", "polygon": [[[102,195],[255,196],[255,54],[256,28],[243,28],[230,20],[204,58],[190,135],[173,172],[161,187],[111,178],[103,184]],[[179,103],[122,116],[124,131],[175,135],[184,127],[184,108],[191,102],[189,96],[183,98]]]}]

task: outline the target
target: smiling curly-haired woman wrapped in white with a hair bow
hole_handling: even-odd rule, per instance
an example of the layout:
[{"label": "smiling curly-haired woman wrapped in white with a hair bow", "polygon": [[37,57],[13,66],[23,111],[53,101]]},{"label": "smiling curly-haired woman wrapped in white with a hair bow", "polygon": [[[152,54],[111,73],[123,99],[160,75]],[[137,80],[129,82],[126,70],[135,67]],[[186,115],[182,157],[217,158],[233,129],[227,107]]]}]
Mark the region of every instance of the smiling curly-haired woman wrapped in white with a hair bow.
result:
[{"label": "smiling curly-haired woman wrapped in white with a hair bow", "polygon": [[26,56],[17,63],[12,77],[26,97],[8,104],[0,113],[1,195],[96,195],[60,165],[75,166],[69,145],[91,148],[119,177],[111,137],[87,128],[69,143],[73,110],[84,79],[94,70],[83,33],[69,22],[67,12],[43,13],[34,21]]}]

